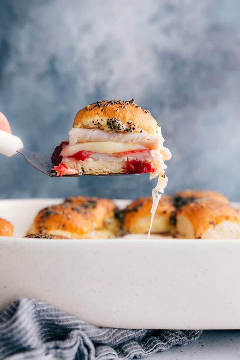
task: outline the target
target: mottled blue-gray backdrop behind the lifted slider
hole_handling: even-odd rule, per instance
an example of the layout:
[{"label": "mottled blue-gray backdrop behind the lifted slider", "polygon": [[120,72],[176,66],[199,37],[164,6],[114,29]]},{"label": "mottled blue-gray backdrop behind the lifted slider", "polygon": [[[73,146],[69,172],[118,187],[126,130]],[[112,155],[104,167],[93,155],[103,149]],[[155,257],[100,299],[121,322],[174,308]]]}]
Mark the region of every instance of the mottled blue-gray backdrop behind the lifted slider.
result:
[{"label": "mottled blue-gray backdrop behind the lifted slider", "polygon": [[[51,154],[78,109],[136,99],[162,126],[167,193],[240,200],[239,0],[1,0],[0,111]],[[148,175],[51,179],[0,155],[0,197],[150,194]]]}]

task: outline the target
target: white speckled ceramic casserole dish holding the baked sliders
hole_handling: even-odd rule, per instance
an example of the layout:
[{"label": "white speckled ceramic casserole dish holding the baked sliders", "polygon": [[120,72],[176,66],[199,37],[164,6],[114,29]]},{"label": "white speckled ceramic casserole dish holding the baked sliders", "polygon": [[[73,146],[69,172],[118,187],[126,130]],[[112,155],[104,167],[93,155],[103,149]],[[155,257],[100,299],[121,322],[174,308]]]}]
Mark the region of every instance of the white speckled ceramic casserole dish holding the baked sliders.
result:
[{"label": "white speckled ceramic casserole dish holding the baked sliders", "polygon": [[16,236],[0,237],[0,310],[33,297],[105,327],[240,328],[240,240],[21,238],[61,201],[0,200]]}]

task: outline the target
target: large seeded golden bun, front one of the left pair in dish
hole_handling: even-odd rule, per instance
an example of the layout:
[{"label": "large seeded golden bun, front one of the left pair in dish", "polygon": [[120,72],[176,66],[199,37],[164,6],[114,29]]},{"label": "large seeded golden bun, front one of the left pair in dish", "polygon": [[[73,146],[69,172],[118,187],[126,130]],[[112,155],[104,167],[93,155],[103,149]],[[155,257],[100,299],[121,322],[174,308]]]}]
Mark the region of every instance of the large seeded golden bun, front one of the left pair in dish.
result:
[{"label": "large seeded golden bun, front one of the left pair in dish", "polygon": [[84,238],[92,230],[92,215],[76,204],[53,205],[35,217],[28,234],[55,234],[67,238]]}]

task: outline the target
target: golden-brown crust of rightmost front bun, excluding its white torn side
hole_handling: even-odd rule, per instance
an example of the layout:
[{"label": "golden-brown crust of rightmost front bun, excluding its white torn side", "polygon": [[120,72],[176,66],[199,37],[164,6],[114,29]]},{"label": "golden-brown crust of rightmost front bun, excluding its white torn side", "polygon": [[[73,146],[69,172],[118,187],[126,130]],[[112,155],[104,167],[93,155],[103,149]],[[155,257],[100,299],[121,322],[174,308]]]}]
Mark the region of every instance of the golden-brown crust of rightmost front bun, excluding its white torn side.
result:
[{"label": "golden-brown crust of rightmost front bun, excluding its white torn side", "polygon": [[187,238],[205,238],[209,228],[225,221],[240,225],[239,211],[213,199],[197,199],[177,210],[177,231]]}]

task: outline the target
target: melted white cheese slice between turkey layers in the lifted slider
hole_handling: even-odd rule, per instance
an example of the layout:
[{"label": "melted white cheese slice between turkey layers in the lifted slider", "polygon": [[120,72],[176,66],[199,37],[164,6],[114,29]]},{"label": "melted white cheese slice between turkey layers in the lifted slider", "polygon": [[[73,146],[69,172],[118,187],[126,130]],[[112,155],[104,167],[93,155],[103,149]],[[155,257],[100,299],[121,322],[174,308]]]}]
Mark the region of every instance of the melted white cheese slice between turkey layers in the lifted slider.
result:
[{"label": "melted white cheese slice between turkey layers in the lifted slider", "polygon": [[88,142],[75,145],[67,145],[61,152],[63,157],[76,154],[78,151],[86,150],[94,153],[113,154],[137,149],[146,149],[141,144],[136,143],[115,143],[114,141]]}]

